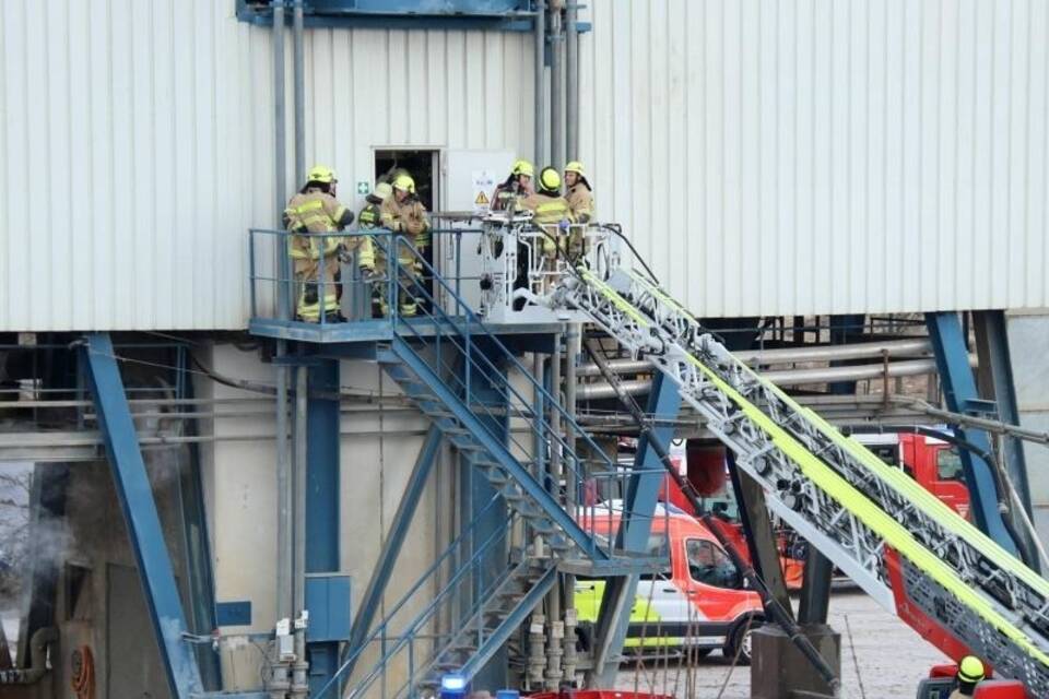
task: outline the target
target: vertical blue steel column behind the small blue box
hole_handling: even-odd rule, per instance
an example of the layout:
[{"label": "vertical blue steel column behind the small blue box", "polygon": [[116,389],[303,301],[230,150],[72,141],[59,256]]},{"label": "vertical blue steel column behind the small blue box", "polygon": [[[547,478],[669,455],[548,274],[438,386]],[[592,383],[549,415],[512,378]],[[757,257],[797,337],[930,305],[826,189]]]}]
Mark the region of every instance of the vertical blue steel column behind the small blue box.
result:
[{"label": "vertical blue steel column behind the small blue box", "polygon": [[[339,362],[309,366],[306,412],[306,573],[338,572],[339,561]],[[299,582],[298,584],[303,584]],[[308,639],[308,636],[307,636]],[[339,665],[339,643],[307,642],[309,688],[319,691]]]}]

